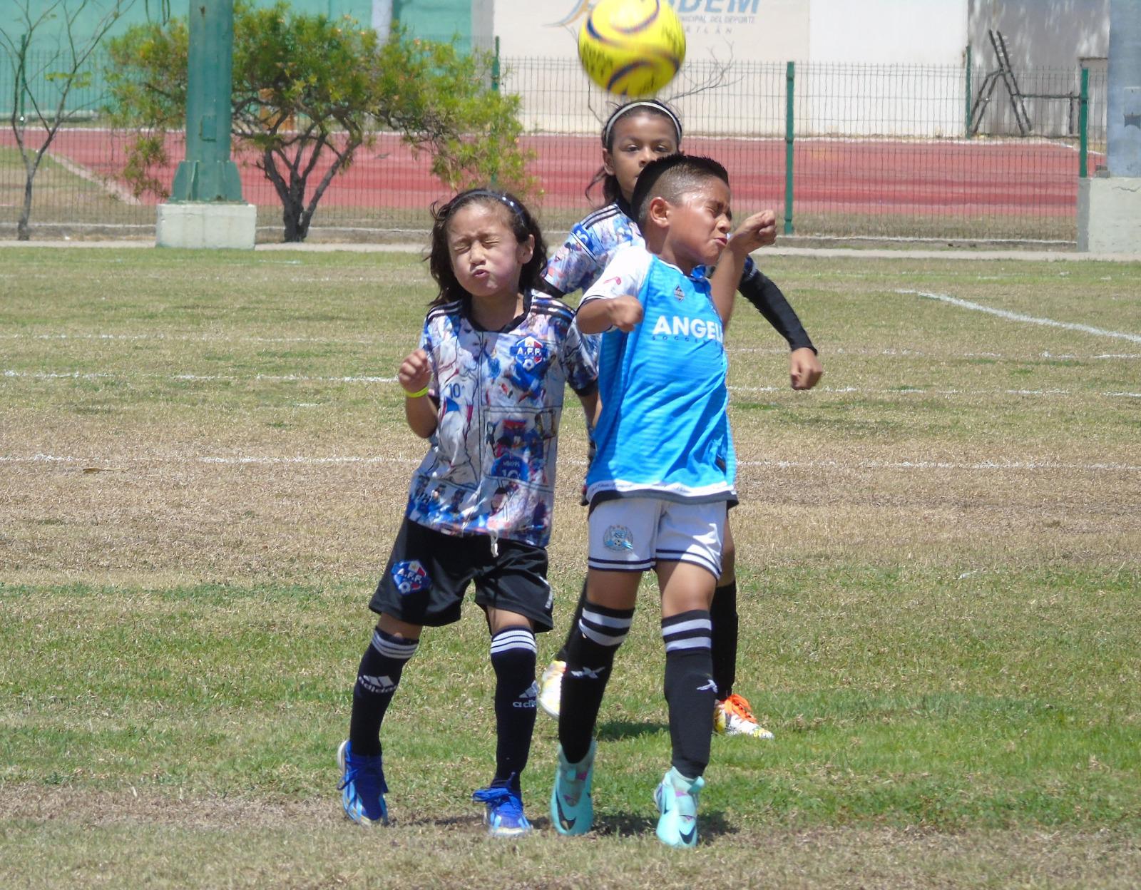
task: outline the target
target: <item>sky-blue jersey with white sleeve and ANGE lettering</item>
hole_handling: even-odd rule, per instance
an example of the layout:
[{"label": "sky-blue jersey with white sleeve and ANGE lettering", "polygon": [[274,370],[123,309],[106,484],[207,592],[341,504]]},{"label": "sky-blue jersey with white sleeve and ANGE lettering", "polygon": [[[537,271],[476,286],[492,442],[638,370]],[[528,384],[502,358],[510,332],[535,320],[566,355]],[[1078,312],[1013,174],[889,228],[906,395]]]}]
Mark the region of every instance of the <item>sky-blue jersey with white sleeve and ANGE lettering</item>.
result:
[{"label": "sky-blue jersey with white sleeve and ANGE lettering", "polygon": [[723,329],[704,270],[686,275],[625,246],[578,308],[623,294],[638,298],[644,316],[629,333],[602,334],[586,496],[736,502]]}]

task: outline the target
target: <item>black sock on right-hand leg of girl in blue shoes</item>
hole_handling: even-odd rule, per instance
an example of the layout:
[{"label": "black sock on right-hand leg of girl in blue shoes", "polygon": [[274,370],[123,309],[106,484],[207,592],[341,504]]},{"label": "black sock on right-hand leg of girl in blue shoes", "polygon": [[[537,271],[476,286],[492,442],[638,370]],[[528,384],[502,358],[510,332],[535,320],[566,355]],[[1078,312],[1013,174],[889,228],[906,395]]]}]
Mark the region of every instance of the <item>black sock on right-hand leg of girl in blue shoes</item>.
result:
[{"label": "black sock on right-hand leg of girl in blue shoes", "polygon": [[519,792],[535,731],[535,634],[529,628],[504,628],[492,637],[495,669],[495,780]]}]

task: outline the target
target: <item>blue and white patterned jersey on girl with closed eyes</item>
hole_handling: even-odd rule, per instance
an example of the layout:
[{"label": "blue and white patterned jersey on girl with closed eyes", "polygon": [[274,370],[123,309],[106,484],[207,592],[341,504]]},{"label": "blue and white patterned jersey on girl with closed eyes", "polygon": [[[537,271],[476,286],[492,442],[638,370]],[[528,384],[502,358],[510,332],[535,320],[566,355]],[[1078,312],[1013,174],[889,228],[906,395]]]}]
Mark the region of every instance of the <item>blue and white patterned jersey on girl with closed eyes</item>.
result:
[{"label": "blue and white patterned jersey on girl with closed eyes", "polygon": [[479,327],[468,302],[437,306],[424,321],[437,427],[412,475],[407,517],[445,534],[545,547],[564,388],[592,393],[598,367],[573,310],[553,297],[527,294],[502,331]]}]

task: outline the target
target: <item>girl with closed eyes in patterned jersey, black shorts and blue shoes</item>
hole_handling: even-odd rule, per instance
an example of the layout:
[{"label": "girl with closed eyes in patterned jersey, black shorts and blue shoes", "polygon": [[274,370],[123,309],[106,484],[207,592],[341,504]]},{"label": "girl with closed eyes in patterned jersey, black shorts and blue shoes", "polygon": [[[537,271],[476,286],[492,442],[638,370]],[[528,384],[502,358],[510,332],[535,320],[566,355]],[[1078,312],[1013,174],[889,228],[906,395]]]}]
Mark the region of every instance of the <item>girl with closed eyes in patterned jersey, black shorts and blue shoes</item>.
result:
[{"label": "girl with closed eyes in patterned jersey, black shorts and blue shoes", "polygon": [[559,300],[532,290],[542,233],[503,192],[472,189],[434,212],[439,285],[420,348],[399,367],[404,412],[430,440],[370,608],[380,614],[337,752],[350,819],[387,823],[380,727],[424,626],[459,621],[468,584],[491,633],[495,775],[472,798],[492,835],[531,830],[519,775],[535,726],[535,631],[551,629],[547,543],[564,385],[597,406],[592,350]]}]

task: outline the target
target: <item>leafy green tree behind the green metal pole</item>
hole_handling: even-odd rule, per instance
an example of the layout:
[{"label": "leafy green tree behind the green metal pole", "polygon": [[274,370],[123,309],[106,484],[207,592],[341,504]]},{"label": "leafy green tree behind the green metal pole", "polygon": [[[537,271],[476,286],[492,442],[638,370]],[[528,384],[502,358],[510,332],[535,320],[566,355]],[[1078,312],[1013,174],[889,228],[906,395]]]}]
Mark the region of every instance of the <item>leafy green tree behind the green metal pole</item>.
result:
[{"label": "leafy green tree behind the green metal pole", "polygon": [[[127,175],[136,194],[162,194],[152,171],[167,165],[164,136],[186,110],[186,21],[130,29],[108,43],[107,72],[120,126],[145,131],[133,141]],[[528,154],[518,137],[519,98],[491,88],[492,58],[395,31],[381,43],[343,18],[294,13],[285,3],[234,5],[234,138],[282,202],[285,241],[304,241],[333,178],[378,130],[429,152],[448,188],[497,181],[533,195]],[[316,177],[318,160],[330,159]],[[165,195],[163,195],[165,196]]]}]

